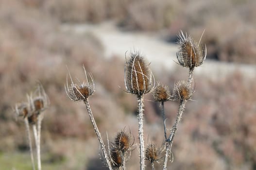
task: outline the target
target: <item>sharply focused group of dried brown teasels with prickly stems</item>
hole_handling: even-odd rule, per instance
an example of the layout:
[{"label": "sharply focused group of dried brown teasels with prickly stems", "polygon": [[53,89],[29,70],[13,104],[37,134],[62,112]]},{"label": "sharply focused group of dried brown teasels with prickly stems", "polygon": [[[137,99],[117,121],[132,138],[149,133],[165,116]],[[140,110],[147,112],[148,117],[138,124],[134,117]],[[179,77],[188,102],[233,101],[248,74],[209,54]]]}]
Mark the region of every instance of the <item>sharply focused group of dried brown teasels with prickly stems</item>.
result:
[{"label": "sharply focused group of dried brown teasels with prickly stems", "polygon": [[[201,37],[202,38],[202,37]],[[201,40],[200,38],[200,40]],[[131,52],[128,58],[125,58],[124,68],[124,85],[125,91],[137,96],[138,101],[138,136],[139,136],[139,157],[140,157],[140,170],[145,168],[145,160],[149,160],[154,169],[154,162],[164,157],[163,169],[167,170],[167,161],[171,155],[171,145],[173,137],[176,134],[178,122],[181,119],[182,113],[185,109],[185,103],[192,97],[193,89],[193,70],[195,67],[201,66],[206,57],[206,46],[199,46],[190,35],[184,34],[182,31],[178,34],[179,51],[177,52],[178,64],[188,68],[188,80],[179,81],[175,84],[174,90],[171,91],[167,85],[158,83],[155,86],[155,79],[152,71],[149,68],[149,64],[139,52]],[[85,68],[84,68],[85,71]],[[91,74],[85,71],[85,81],[82,83],[77,80],[73,81],[69,71],[67,75],[67,84],[65,85],[66,93],[72,101],[83,101],[86,105],[87,112],[91,119],[95,133],[102,149],[102,156],[105,160],[106,166],[112,169],[125,169],[125,162],[127,161],[127,152],[131,148],[131,137],[124,131],[120,131],[108,152],[105,149],[104,142],[101,137],[101,133],[94,120],[88,98],[94,92],[94,80]],[[159,149],[156,145],[149,144],[144,149],[144,136],[143,136],[143,96],[153,91],[153,99],[156,102],[161,102],[162,116],[164,120],[164,151],[165,155],[160,156]],[[177,112],[176,121],[174,122],[169,136],[167,135],[166,118],[164,111],[164,102],[179,100],[179,110]],[[108,145],[109,146],[109,145]]]}]

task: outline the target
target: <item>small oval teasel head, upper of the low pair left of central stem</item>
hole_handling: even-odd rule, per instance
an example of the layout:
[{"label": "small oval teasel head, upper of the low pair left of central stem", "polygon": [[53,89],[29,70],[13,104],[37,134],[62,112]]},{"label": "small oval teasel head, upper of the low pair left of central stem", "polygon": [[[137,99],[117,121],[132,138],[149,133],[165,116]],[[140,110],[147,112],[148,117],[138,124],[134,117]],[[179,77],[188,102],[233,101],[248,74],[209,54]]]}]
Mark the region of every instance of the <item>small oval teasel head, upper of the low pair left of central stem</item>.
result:
[{"label": "small oval teasel head, upper of the low pair left of central stem", "polygon": [[115,148],[119,151],[126,152],[130,147],[131,139],[125,131],[120,131],[115,137]]}]

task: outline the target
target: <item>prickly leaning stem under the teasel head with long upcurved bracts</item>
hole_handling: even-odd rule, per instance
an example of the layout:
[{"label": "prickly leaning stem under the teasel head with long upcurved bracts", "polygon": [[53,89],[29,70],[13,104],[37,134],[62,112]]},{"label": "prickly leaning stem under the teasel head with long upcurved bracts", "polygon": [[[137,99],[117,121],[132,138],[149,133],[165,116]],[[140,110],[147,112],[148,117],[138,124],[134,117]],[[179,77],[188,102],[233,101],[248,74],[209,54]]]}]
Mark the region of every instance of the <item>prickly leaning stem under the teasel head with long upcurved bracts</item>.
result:
[{"label": "prickly leaning stem under the teasel head with long upcurved bracts", "polygon": [[98,140],[99,140],[99,142],[100,142],[100,145],[101,145],[101,147],[102,147],[103,158],[105,159],[106,164],[107,164],[107,167],[109,168],[109,170],[112,170],[111,163],[110,163],[110,161],[109,161],[109,159],[108,159],[107,152],[106,152],[106,149],[105,149],[104,142],[103,142],[103,140],[102,140],[101,133],[100,133],[100,131],[99,131],[98,127],[97,127],[97,124],[96,124],[96,122],[95,122],[95,120],[94,120],[94,117],[93,117],[93,115],[92,115],[92,111],[91,111],[89,102],[88,102],[88,100],[85,100],[84,102],[85,102],[86,109],[87,109],[87,111],[88,111],[89,117],[90,117],[90,119],[91,119],[92,125],[93,125],[93,127],[94,127],[94,131],[95,131],[95,133],[96,133],[96,135],[97,135],[97,137],[98,137]]}]

